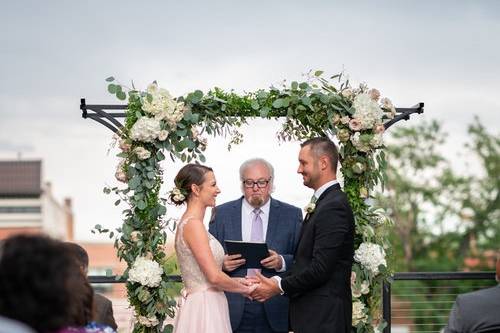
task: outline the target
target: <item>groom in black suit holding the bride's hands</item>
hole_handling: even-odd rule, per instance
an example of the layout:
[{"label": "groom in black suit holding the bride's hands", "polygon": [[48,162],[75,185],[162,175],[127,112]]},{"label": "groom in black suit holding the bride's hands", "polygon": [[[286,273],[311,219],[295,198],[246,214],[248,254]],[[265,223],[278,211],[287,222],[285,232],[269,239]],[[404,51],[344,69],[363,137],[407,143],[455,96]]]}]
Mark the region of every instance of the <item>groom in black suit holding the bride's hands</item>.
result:
[{"label": "groom in black suit holding the bride's hands", "polygon": [[297,172],[314,196],[294,265],[283,278],[257,274],[260,284],[252,293],[258,301],[277,294],[288,296],[295,333],[351,332],[354,217],[336,180],[337,162],[337,148],[327,138],[301,145]]}]

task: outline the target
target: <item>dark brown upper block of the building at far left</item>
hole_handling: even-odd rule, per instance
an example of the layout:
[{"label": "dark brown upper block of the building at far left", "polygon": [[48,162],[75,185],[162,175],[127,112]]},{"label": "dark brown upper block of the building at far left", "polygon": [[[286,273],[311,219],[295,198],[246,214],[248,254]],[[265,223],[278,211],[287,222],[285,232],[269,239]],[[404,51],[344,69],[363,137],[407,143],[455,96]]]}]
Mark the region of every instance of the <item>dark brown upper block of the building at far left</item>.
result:
[{"label": "dark brown upper block of the building at far left", "polygon": [[0,161],[0,197],[38,197],[42,161]]}]

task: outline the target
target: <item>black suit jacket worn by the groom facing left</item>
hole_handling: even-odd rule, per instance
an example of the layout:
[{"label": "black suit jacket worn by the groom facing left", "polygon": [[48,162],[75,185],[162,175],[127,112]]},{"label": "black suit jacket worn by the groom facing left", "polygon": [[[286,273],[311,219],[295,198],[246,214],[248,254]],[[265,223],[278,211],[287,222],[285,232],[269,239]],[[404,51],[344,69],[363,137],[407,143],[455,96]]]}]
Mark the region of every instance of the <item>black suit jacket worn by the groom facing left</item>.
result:
[{"label": "black suit jacket worn by the groom facing left", "polygon": [[290,297],[295,333],[350,332],[351,267],[354,216],[347,197],[335,184],[306,217],[294,265],[281,287]]}]

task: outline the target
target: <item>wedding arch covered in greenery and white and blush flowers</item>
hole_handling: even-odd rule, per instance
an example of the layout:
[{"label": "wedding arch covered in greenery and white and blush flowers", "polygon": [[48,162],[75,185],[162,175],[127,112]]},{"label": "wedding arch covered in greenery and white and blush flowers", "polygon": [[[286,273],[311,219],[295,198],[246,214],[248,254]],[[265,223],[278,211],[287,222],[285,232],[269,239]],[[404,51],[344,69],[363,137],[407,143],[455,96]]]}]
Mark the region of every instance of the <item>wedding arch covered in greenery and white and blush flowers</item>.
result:
[{"label": "wedding arch covered in greenery and white and blush flowers", "polygon": [[[134,333],[171,332],[164,325],[175,315],[176,300],[169,291],[174,280],[168,276],[163,246],[169,223],[164,219],[167,202],[160,193],[168,155],[182,162],[205,162],[206,136],[229,136],[238,144],[238,128],[249,117],[284,119],[280,140],[304,140],[315,136],[336,138],[340,149],[340,172],[344,191],[355,214],[356,236],[353,274],[353,331],[381,332],[381,290],[390,278],[386,256],[387,236],[393,222],[367,199],[385,175],[383,134],[396,122],[423,112],[423,103],[395,108],[388,98],[366,84],[352,87],[341,73],[325,78],[322,71],[310,72],[302,82],[286,81],[279,87],[237,94],[214,88],[174,98],[150,84],[145,91],[125,87],[113,77],[106,79],[108,91],[127,105],[90,105],[81,99],[83,118],[95,120],[115,132],[121,159],[115,178],[121,182],[105,193],[115,193],[115,205],[125,202],[123,224],[109,232],[120,260],[127,263],[121,276],[135,312]],[[115,110],[124,110],[116,112]],[[124,122],[118,119],[124,118]],[[173,190],[175,191],[175,189]],[[182,196],[182,193],[175,195]]]}]

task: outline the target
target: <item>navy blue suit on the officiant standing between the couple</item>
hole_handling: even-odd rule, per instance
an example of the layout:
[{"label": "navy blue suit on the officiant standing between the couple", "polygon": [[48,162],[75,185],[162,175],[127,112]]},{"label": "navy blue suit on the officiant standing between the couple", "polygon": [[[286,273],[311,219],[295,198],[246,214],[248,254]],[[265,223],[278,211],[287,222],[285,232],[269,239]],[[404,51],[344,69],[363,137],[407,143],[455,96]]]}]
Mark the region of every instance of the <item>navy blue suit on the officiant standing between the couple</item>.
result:
[{"label": "navy blue suit on the officiant standing between the couple", "polygon": [[[215,209],[215,219],[210,223],[209,231],[223,246],[226,239],[242,240],[242,200],[243,198],[230,201]],[[275,250],[283,256],[287,270],[293,264],[293,253],[297,247],[301,225],[302,211],[299,208],[271,198],[266,243],[269,249]],[[246,274],[245,268],[238,268],[229,273],[233,277],[244,277]],[[269,277],[283,275],[284,272],[277,274],[274,270],[263,269],[262,274]],[[235,293],[226,293],[226,296],[231,326],[233,330],[236,330],[243,317],[245,298]],[[272,297],[264,303],[264,309],[269,325],[274,331],[288,332],[288,299],[286,297]]]}]

